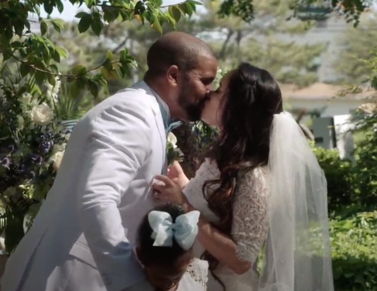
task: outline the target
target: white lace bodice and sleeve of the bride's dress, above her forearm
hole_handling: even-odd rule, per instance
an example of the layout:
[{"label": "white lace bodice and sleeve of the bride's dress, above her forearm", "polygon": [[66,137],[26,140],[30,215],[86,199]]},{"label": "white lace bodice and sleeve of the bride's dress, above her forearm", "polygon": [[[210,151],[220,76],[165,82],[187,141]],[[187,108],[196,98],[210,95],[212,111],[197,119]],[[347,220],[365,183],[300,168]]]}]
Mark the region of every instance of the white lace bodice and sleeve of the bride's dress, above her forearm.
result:
[{"label": "white lace bodice and sleeve of the bride's dress, above her forearm", "polygon": [[[208,208],[202,187],[205,181],[219,176],[216,163],[206,159],[183,189],[190,203],[211,222],[216,222],[218,217]],[[241,179],[235,192],[231,234],[237,244],[237,255],[243,260],[255,262],[267,236],[268,177],[267,167],[255,168]]]}]

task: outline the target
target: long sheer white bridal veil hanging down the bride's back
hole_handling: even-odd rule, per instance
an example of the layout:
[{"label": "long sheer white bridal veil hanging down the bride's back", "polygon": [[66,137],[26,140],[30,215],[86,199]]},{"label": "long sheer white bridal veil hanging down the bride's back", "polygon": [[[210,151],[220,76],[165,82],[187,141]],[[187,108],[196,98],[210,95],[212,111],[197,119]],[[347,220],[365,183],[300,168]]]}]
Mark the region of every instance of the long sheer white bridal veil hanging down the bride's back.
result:
[{"label": "long sheer white bridal veil hanging down the bride's back", "polygon": [[270,231],[260,291],[333,291],[326,179],[291,114],[270,139]]}]

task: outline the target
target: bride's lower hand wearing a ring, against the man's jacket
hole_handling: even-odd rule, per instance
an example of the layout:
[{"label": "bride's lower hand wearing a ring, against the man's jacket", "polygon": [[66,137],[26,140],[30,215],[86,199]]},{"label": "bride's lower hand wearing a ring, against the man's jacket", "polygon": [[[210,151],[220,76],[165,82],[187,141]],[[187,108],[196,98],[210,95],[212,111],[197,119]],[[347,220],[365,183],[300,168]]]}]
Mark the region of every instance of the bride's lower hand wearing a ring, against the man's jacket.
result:
[{"label": "bride's lower hand wearing a ring, against the man's jacket", "polygon": [[174,202],[183,205],[186,201],[180,187],[169,177],[157,175],[155,177],[158,182],[152,184],[152,188],[157,191],[155,199],[163,202]]}]

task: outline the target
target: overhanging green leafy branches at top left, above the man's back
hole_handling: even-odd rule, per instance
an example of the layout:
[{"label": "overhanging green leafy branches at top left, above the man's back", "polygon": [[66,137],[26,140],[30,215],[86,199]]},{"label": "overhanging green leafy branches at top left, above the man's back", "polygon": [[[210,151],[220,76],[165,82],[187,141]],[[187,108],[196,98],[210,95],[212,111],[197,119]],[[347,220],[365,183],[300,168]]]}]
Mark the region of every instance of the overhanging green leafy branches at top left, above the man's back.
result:
[{"label": "overhanging green leafy branches at top left, above the man's back", "polygon": [[[167,11],[161,7],[162,1],[149,0],[70,0],[72,4],[86,6],[89,12],[80,12],[78,31],[84,33],[89,29],[96,35],[103,34],[109,25],[106,22],[121,22],[137,19],[140,23],[149,22],[150,26],[162,33],[162,24],[169,23],[176,27],[178,20],[191,16],[196,11],[198,2],[187,0],[171,6]],[[77,65],[70,72],[62,74],[58,67],[61,59],[66,57],[65,50],[50,39],[50,27],[61,33],[65,23],[61,19],[40,17],[40,5],[50,14],[54,8],[62,12],[64,7],[60,0],[29,0],[25,2],[10,0],[0,1],[0,54],[4,61],[16,60],[22,76],[30,75],[41,85],[45,80],[53,82],[50,76],[67,79],[72,85],[71,91],[79,94],[89,90],[97,96],[101,87],[113,78],[125,78],[130,75],[134,59],[128,50],[123,50],[119,58],[106,56],[102,62],[91,68]],[[29,14],[38,16],[40,35],[31,31]],[[54,84],[51,84],[54,85]]]}]

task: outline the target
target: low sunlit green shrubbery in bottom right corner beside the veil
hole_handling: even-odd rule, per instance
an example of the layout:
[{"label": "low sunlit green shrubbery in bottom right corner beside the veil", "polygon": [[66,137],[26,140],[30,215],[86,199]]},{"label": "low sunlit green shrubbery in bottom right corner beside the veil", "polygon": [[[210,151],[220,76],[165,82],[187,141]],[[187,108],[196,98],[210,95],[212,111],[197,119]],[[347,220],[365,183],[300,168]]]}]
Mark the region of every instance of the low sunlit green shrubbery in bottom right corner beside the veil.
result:
[{"label": "low sunlit green shrubbery in bottom right corner beside the veil", "polygon": [[377,211],[331,222],[336,291],[377,290]]}]

